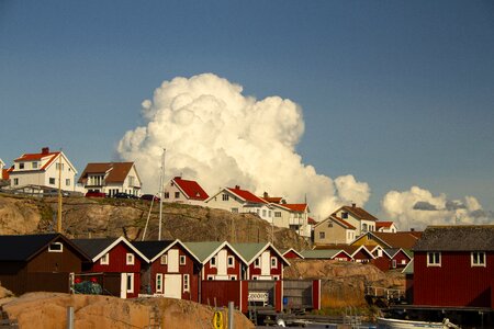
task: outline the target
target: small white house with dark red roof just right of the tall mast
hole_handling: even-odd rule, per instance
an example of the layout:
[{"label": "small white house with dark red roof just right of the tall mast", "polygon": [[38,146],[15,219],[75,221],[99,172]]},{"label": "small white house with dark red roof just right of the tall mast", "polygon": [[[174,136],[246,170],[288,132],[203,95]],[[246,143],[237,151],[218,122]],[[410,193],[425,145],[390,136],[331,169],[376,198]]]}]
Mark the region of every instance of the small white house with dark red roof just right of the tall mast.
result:
[{"label": "small white house with dark red roof just right of the tall mast", "polygon": [[197,181],[183,180],[181,177],[173,178],[164,186],[164,202],[204,205],[207,197],[207,193]]}]

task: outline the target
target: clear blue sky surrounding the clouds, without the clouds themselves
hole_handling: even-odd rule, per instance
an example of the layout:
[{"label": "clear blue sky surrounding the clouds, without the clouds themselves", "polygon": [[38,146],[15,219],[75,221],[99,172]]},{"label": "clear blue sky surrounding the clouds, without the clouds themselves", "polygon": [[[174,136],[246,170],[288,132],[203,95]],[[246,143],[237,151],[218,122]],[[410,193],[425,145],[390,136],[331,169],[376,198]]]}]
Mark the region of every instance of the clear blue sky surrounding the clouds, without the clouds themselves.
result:
[{"label": "clear blue sky surrounding the clouds, without the clouds themselves", "polygon": [[164,80],[303,109],[304,163],[494,209],[492,1],[0,1],[0,158],[115,159]]}]

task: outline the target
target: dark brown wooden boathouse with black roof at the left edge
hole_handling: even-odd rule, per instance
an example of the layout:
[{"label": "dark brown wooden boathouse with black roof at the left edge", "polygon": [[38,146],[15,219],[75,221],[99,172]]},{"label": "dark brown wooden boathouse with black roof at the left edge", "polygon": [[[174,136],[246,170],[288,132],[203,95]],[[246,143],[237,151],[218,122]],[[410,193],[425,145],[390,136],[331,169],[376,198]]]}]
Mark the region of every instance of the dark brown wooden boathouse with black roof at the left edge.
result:
[{"label": "dark brown wooden boathouse with black roof at the left edge", "polygon": [[60,234],[0,236],[0,282],[16,295],[69,293],[70,273],[89,257]]}]

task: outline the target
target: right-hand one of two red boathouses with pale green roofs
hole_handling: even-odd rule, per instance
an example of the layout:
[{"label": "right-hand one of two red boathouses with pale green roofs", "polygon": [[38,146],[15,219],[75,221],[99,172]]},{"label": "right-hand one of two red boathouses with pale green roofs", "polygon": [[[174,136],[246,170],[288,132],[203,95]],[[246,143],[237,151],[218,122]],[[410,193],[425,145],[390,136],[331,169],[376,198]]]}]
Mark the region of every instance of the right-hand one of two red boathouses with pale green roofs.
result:
[{"label": "right-hand one of two red boathouses with pale green roofs", "polygon": [[271,243],[233,243],[247,261],[245,280],[283,280],[287,259]]}]

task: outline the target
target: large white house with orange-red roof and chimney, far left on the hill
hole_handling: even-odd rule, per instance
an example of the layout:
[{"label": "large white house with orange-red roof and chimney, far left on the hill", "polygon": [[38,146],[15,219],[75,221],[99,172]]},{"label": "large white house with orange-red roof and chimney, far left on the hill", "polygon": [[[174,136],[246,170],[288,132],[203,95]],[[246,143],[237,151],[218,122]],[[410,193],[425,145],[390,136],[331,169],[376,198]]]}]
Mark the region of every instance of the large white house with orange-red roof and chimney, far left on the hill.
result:
[{"label": "large white house with orange-red roof and chimney, far left on the hill", "polygon": [[24,154],[14,160],[9,173],[12,189],[38,186],[75,191],[77,170],[60,150],[44,147],[40,154]]}]

